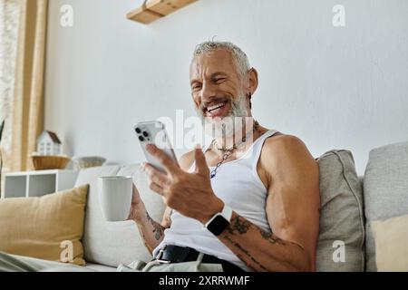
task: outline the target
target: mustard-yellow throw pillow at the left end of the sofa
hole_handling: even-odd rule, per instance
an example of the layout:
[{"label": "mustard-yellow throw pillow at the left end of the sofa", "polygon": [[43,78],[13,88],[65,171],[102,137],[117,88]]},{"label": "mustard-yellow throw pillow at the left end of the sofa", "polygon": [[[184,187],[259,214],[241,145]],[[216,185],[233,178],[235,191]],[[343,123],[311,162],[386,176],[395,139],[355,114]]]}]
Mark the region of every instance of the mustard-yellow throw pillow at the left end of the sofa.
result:
[{"label": "mustard-yellow throw pillow at the left end of the sofa", "polygon": [[83,220],[88,185],[41,198],[0,200],[0,251],[85,265]]}]

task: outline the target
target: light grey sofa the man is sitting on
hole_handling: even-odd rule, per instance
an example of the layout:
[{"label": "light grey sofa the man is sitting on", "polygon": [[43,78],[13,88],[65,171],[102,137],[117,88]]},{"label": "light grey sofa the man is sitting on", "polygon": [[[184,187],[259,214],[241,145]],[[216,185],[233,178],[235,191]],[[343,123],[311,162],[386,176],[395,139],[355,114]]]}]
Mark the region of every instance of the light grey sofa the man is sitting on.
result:
[{"label": "light grey sofa the man is sitting on", "polygon": [[[317,271],[375,271],[373,220],[408,214],[408,142],[370,152],[364,178],[358,178],[352,153],[332,150],[319,159],[321,218]],[[115,271],[120,264],[150,260],[132,221],[105,222],[97,179],[132,176],[151,217],[160,220],[162,199],[151,192],[138,165],[84,169],[75,186],[90,184],[83,234],[87,267]]]}]

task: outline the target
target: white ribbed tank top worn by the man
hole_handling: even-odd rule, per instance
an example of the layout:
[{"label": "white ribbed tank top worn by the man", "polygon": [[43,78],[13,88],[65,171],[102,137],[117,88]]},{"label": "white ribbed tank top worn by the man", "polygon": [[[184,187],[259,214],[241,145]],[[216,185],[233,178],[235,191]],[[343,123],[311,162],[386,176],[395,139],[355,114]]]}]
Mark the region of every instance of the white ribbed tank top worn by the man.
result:
[{"label": "white ribbed tank top worn by the man", "polygon": [[[257,161],[265,140],[276,133],[277,131],[274,130],[264,133],[241,158],[222,164],[217,170],[216,177],[211,179],[211,187],[218,198],[239,216],[247,218],[267,232],[271,232],[266,213],[267,189],[257,174]],[[208,148],[204,152],[207,150]],[[195,163],[189,172],[194,169]],[[164,231],[165,236],[160,245],[154,249],[153,256],[156,256],[164,245],[192,247],[199,252],[218,256],[250,271],[238,256],[203,227],[197,219],[186,218],[177,211],[173,211],[170,218],[171,226]]]}]

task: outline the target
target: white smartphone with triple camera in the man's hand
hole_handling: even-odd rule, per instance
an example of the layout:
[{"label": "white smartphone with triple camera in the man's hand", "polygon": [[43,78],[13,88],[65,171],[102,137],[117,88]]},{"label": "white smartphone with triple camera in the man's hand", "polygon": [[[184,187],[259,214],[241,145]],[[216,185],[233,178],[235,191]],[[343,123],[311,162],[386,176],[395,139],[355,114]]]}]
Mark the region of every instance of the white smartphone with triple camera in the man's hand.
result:
[{"label": "white smartphone with triple camera in the man's hand", "polygon": [[163,150],[171,160],[179,166],[176,154],[171,147],[169,136],[166,132],[164,124],[160,121],[143,121],[139,122],[134,126],[134,131],[141,143],[141,150],[148,163],[154,166],[156,169],[165,171],[163,166],[158,160],[156,160],[151,154],[146,150],[147,144],[154,144],[160,150]]}]

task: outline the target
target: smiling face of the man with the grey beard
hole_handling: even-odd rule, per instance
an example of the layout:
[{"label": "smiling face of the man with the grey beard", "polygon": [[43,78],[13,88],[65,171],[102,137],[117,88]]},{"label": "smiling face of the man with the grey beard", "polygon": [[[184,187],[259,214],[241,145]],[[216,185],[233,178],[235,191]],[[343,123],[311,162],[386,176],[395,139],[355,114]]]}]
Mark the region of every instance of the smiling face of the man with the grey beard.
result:
[{"label": "smiling face of the man with the grey beard", "polygon": [[228,50],[197,55],[190,67],[190,85],[200,116],[211,120],[248,116],[243,77]]}]

